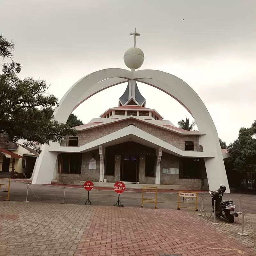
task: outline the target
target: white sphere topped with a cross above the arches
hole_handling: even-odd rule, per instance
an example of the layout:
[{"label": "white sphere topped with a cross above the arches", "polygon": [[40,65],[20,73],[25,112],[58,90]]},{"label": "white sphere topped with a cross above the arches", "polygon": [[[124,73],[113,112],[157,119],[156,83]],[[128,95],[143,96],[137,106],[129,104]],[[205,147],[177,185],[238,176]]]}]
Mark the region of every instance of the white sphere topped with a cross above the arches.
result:
[{"label": "white sphere topped with a cross above the arches", "polygon": [[140,68],[144,62],[144,53],[140,48],[136,47],[136,36],[140,36],[140,34],[136,32],[136,28],[134,33],[131,33],[130,35],[134,36],[134,47],[129,48],[124,53],[124,63],[128,68],[137,69]]}]

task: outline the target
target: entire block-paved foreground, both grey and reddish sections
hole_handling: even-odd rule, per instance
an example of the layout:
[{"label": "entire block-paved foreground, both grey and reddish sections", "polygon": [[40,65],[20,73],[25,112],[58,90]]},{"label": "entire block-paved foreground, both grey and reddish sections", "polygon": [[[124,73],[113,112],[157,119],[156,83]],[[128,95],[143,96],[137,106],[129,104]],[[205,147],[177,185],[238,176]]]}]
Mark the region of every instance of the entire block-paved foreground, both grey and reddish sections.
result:
[{"label": "entire block-paved foreground, both grey and reddish sections", "polygon": [[0,256],[256,255],[256,218],[239,236],[231,224],[198,212],[0,201]]}]

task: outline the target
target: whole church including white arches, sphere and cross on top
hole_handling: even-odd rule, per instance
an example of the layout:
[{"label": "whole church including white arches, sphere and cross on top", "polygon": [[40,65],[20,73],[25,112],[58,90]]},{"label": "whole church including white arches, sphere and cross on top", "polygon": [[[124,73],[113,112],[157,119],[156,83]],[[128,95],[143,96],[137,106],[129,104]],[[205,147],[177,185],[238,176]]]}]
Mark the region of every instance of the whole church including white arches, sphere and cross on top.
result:
[{"label": "whole church including white arches, sphere and cross on top", "polygon": [[[136,70],[144,62],[144,53],[136,47],[140,34],[135,29],[131,35],[134,47],[124,53],[130,70],[107,68],[84,76],[66,92],[53,115],[65,123],[84,100],[127,83],[118,104],[88,124],[75,127],[76,137],[43,145],[32,184],[123,181],[178,189],[208,189],[209,184],[211,190],[224,184],[229,192],[218,133],[204,103],[176,76],[159,70]],[[198,131],[177,128],[156,109],[148,108],[138,82],[180,102],[196,120]]]}]

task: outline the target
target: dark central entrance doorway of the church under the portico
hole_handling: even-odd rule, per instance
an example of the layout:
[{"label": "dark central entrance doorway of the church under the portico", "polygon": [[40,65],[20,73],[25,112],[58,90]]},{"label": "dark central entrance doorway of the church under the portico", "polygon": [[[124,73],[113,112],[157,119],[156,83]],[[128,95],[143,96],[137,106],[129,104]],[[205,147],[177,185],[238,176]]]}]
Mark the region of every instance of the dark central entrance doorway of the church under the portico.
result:
[{"label": "dark central entrance doorway of the church under the portico", "polygon": [[121,158],[121,181],[139,181],[139,157],[122,156]]}]

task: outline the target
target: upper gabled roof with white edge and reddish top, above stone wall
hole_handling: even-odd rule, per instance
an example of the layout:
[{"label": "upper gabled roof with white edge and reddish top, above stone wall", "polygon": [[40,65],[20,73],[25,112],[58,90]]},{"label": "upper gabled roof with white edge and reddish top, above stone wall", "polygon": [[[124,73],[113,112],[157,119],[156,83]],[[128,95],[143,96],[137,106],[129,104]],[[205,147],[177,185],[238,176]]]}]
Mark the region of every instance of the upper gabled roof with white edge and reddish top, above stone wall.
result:
[{"label": "upper gabled roof with white edge and reddish top, above stone wall", "polygon": [[147,119],[141,119],[138,118],[137,116],[120,116],[120,118],[116,119],[116,118],[104,118],[104,122],[100,123],[100,122],[93,122],[90,124],[83,124],[80,126],[76,126],[76,130],[77,131],[85,131],[85,130],[89,130],[95,127],[99,127],[99,126],[103,126],[103,125],[108,125],[108,124],[113,124],[113,123],[117,123],[117,122],[122,122],[124,120],[129,120],[129,119],[133,119],[133,120],[137,120],[139,122],[145,123],[145,124],[150,124],[159,128],[162,128],[164,130],[170,131],[170,132],[175,132],[181,135],[205,135],[204,132],[199,132],[199,131],[187,131],[187,130],[182,130],[178,127],[172,126],[172,125],[166,125],[166,124],[161,124],[159,122],[161,121],[156,121],[156,120],[147,120]]}]

